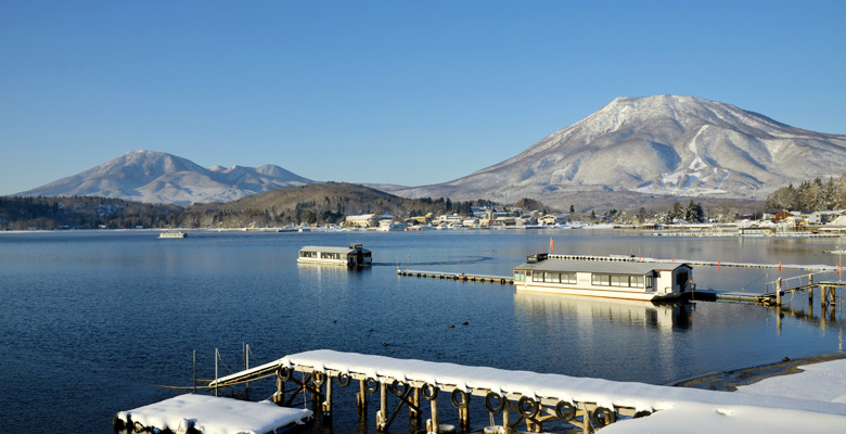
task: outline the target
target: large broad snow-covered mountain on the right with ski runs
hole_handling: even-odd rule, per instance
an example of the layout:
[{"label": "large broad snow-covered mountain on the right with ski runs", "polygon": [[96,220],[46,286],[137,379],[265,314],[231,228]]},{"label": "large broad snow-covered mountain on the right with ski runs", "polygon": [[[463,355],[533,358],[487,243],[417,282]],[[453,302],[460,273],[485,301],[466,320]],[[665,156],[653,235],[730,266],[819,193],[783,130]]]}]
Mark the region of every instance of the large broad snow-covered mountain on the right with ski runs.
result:
[{"label": "large broad snow-covered mountain on the right with ski runs", "polygon": [[780,124],[695,97],[617,98],[520,155],[411,196],[554,199],[617,191],[765,199],[789,182],[846,173],[846,136]]}]

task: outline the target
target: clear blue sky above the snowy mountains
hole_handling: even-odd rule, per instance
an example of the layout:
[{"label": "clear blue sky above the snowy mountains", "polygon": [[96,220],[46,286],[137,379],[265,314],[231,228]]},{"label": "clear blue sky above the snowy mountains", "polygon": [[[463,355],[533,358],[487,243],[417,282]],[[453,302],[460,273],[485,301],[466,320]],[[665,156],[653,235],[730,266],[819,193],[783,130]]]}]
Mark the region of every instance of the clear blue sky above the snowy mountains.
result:
[{"label": "clear blue sky above the snowy mountains", "polygon": [[0,3],[0,194],[128,151],[421,186],[616,97],[846,133],[846,2]]}]

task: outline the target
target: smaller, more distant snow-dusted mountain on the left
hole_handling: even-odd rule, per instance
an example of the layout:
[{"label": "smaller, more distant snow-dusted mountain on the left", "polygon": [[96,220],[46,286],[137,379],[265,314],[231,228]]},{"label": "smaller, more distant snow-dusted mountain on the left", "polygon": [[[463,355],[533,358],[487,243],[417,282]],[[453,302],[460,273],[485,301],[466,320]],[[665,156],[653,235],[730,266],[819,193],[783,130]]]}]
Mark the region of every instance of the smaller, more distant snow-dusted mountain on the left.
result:
[{"label": "smaller, more distant snow-dusted mountain on the left", "polygon": [[204,168],[164,152],[132,151],[81,174],[15,195],[118,197],[146,203],[229,202],[315,181],[279,166]]}]

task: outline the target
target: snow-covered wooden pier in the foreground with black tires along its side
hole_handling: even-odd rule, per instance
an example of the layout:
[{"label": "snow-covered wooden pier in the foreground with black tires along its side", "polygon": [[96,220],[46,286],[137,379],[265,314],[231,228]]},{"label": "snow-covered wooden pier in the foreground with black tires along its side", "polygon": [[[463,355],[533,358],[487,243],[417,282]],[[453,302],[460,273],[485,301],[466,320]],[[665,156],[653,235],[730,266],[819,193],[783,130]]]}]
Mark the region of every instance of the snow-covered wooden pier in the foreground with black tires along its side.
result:
[{"label": "snow-covered wooden pier in the foreground with black tires along its side", "polygon": [[[424,412],[421,398],[430,405],[426,432],[431,434],[445,431],[439,423],[443,399],[449,399],[458,408],[461,431],[470,429],[470,406],[480,401],[491,420],[499,414],[502,424],[495,430],[504,434],[514,432],[524,422],[526,431],[540,432],[546,422],[552,421],[577,426],[584,433],[617,422],[607,429],[616,432],[617,425],[627,425],[633,419],[638,419],[641,431],[649,431],[646,420],[654,419],[656,426],[668,419],[695,425],[698,418],[712,420],[715,414],[727,432],[744,432],[749,418],[759,429],[757,432],[791,431],[785,421],[806,432],[846,426],[846,403],[614,382],[326,349],[285,356],[220,378],[209,385],[226,386],[271,375],[278,384],[274,400],[284,404],[285,383],[293,382],[297,387],[291,395],[310,392],[320,400],[324,416],[332,412],[333,383],[343,387],[356,380],[360,409],[367,409],[368,394],[380,395],[376,411],[380,432],[390,427],[403,406],[409,408],[411,419],[419,422]],[[393,412],[388,400],[399,401]]]}]

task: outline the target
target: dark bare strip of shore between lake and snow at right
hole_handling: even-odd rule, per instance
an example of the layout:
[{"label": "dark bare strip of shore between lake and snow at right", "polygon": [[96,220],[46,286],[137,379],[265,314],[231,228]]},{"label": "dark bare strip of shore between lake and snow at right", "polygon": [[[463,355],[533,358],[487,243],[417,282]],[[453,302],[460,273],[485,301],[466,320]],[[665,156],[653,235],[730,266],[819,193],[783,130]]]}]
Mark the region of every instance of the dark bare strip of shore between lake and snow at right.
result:
[{"label": "dark bare strip of shore between lake and snow at right", "polygon": [[730,371],[710,372],[689,379],[668,383],[674,387],[705,388],[709,391],[735,392],[738,387],[757,383],[773,376],[790,375],[800,372],[800,366],[821,363],[825,361],[846,359],[846,352],[820,356],[787,359],[774,363],[759,365]]}]

